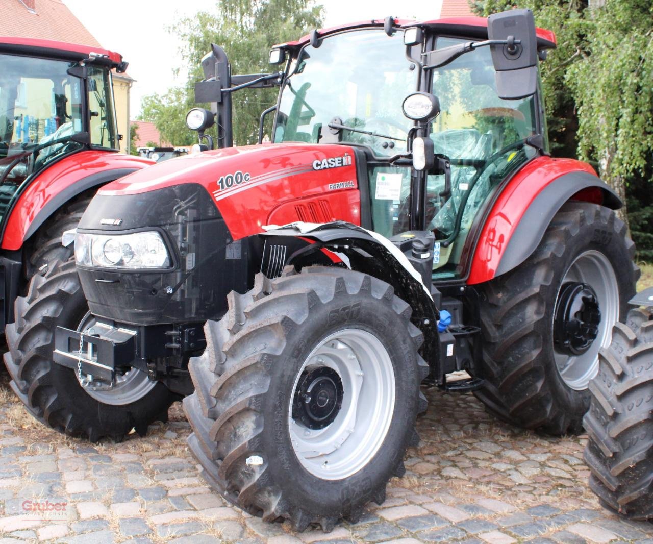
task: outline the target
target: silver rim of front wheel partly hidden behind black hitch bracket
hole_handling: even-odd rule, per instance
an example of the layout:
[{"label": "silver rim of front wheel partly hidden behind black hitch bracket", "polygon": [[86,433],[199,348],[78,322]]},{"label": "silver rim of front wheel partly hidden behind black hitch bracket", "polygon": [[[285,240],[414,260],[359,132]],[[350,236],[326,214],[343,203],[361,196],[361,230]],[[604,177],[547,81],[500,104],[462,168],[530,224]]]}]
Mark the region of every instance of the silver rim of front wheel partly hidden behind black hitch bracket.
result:
[{"label": "silver rim of front wheel partly hidden behind black hitch bracket", "polygon": [[[77,332],[84,330],[84,334],[89,336],[95,334],[93,330],[95,321],[95,316],[91,312],[86,313],[84,319],[82,319],[82,322],[76,329]],[[136,402],[146,396],[157,385],[157,382],[151,381],[148,375],[142,370],[138,370],[138,368],[130,368],[125,374],[118,374],[116,372],[116,381],[111,385],[97,381],[91,382],[89,385],[84,385],[80,381],[78,372],[75,372],[75,376],[80,387],[89,396],[95,400],[99,400],[103,404],[111,404],[113,406],[123,406]]]}]

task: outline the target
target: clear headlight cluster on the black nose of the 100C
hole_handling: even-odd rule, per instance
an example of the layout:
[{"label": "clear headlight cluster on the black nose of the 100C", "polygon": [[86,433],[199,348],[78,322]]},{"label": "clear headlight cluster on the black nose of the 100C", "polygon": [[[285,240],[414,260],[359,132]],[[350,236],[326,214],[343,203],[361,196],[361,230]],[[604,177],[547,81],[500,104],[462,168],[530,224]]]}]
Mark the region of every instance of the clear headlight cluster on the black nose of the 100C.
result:
[{"label": "clear headlight cluster on the black nose of the 100C", "polygon": [[89,234],[78,232],[75,261],[104,268],[168,268],[170,255],[159,232]]}]

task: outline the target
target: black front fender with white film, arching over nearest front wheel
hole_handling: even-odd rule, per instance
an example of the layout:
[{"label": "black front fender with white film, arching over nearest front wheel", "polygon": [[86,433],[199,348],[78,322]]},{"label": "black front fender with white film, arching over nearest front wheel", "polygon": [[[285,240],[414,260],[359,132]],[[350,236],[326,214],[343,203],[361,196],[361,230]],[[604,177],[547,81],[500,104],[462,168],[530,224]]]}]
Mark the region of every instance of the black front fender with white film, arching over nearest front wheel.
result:
[{"label": "black front fender with white film, arching over nearest front wheel", "polygon": [[417,270],[390,240],[343,221],[294,223],[259,236],[266,248],[261,270],[272,277],[281,274],[283,266],[300,270],[330,261],[333,266],[370,274],[392,285],[395,294],[411,306],[411,321],[424,334],[422,357],[434,368],[439,364],[438,309]]}]

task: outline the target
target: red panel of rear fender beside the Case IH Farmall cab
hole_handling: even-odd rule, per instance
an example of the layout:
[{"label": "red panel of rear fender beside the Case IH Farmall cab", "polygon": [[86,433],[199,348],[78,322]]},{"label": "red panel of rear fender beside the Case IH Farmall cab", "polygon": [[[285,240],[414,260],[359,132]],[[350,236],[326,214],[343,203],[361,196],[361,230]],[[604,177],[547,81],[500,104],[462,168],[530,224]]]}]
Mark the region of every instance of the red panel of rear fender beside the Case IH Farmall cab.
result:
[{"label": "red panel of rear fender beside the Case IH Farmall cab", "polygon": [[511,236],[535,197],[552,181],[569,172],[588,172],[596,176],[594,168],[586,163],[551,157],[538,157],[513,176],[485,221],[471,262],[468,284],[494,278]]}]

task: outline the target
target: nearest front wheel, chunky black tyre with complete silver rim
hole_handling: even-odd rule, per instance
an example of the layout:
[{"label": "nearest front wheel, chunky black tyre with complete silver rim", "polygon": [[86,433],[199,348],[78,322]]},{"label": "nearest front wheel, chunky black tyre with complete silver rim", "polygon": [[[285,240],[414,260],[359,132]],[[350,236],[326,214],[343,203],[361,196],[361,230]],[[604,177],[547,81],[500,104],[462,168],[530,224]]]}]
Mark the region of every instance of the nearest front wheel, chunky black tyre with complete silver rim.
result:
[{"label": "nearest front wheel, chunky black tyre with complete silver rim", "polygon": [[[329,531],[343,517],[357,520],[370,500],[385,500],[387,481],[405,472],[406,448],[419,441],[415,417],[426,409],[419,385],[428,374],[417,353],[422,334],[410,323],[408,304],[393,293],[371,276],[325,267],[287,271],[271,281],[258,274],[252,291],[230,293],[227,314],[204,326],[207,347],[189,365],[195,393],[183,402],[194,431],[189,446],[217,492],[264,520],[289,519],[298,531],[311,523]],[[364,346],[375,346],[375,356]],[[382,385],[377,376],[384,369],[389,381]],[[345,374],[360,378],[357,394],[365,403],[351,400]],[[313,379],[305,376],[318,384],[308,388],[310,395],[298,381]],[[323,398],[315,393],[326,411],[295,413],[302,402],[312,406],[319,387],[331,391]],[[389,413],[361,424],[370,404],[373,414],[389,404]],[[352,406],[368,412],[358,412],[359,421],[349,420],[357,423],[347,428],[341,424]],[[310,437],[327,433],[328,445],[321,447],[332,451],[315,445],[313,453],[321,453],[305,455]],[[356,453],[360,443],[369,447]]]}]

